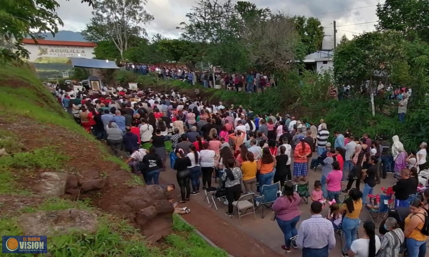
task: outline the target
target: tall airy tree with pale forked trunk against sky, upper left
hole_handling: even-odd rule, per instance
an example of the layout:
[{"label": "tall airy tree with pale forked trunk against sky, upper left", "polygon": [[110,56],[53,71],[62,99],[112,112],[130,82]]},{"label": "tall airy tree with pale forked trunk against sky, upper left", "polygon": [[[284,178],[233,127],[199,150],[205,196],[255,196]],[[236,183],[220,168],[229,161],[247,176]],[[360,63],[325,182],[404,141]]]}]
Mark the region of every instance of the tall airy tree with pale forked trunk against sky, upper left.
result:
[{"label": "tall airy tree with pale forked trunk against sky, upper left", "polygon": [[94,3],[94,18],[87,25],[84,34],[89,39],[103,40],[108,37],[118,48],[119,54],[130,46],[133,37],[146,34],[142,24],[154,19],[144,8],[147,0],[100,0]]}]

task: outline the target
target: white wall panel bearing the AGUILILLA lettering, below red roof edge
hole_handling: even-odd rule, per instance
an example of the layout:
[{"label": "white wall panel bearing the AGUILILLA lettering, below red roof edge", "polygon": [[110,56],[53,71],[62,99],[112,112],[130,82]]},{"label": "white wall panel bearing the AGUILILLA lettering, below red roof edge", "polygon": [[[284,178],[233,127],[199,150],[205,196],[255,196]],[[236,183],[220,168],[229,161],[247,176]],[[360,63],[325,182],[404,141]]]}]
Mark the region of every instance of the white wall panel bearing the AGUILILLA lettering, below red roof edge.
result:
[{"label": "white wall panel bearing the AGUILILLA lettering, below red roof edge", "polygon": [[94,58],[94,47],[68,45],[34,45],[24,44],[30,52],[28,61],[34,62],[39,57],[83,57]]}]

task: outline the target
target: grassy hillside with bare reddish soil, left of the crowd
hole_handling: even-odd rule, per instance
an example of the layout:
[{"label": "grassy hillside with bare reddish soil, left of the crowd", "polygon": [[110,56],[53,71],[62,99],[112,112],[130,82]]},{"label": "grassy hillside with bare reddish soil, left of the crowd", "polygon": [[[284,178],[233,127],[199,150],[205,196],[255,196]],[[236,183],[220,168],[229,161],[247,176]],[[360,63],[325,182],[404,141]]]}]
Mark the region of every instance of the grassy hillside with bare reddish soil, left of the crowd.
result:
[{"label": "grassy hillside with bare reddish soil, left of the crowd", "polygon": [[[104,212],[106,199],[115,200],[116,191],[126,192],[141,186],[142,181],[125,170],[121,173],[121,168],[127,169],[124,161],[110,155],[106,146],[78,126],[30,69],[0,66],[0,112],[0,149],[9,153],[0,157],[0,234],[23,234],[22,215],[79,209],[96,213],[96,231],[48,236],[51,256],[227,256],[208,245],[178,216],[174,217],[172,234],[160,244],[148,245],[122,216]],[[100,190],[76,201],[44,197],[34,190],[42,172],[78,174],[91,168],[100,177],[112,176],[115,190]]]}]

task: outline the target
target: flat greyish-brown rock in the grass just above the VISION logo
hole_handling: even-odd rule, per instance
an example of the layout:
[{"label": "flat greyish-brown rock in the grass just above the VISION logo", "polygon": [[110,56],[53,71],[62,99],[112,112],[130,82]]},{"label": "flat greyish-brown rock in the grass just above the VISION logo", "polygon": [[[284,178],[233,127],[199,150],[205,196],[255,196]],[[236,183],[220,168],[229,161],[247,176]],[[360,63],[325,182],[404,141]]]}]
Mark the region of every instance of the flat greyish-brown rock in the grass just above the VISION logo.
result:
[{"label": "flat greyish-brown rock in the grass just above the VISION logo", "polygon": [[79,209],[24,213],[18,221],[24,235],[56,235],[73,231],[97,231],[97,215]]}]

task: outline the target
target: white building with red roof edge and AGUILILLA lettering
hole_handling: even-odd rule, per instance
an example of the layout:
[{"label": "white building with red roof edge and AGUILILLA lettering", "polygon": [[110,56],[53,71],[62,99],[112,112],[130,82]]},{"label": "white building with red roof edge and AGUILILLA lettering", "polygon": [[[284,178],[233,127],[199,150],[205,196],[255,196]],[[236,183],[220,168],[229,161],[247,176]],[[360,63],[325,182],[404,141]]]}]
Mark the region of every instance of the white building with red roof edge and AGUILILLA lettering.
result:
[{"label": "white building with red roof edge and AGUILILLA lettering", "polygon": [[37,39],[24,39],[24,48],[30,52],[29,62],[35,62],[39,57],[82,57],[94,58],[94,48],[97,46],[91,42],[58,41]]}]

